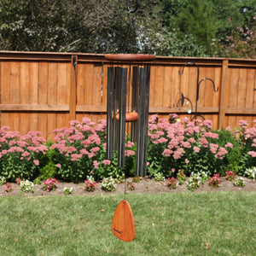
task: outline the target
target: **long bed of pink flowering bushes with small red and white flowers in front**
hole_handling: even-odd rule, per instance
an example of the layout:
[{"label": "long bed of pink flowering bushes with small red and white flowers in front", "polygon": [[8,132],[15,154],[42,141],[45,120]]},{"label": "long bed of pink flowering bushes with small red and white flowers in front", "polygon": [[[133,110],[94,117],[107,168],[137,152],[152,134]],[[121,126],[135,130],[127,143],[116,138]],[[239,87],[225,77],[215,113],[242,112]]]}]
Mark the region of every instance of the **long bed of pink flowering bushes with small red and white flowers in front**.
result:
[{"label": "long bed of pink flowering bushes with small red and white flowers in front", "polygon": [[112,160],[106,159],[105,120],[71,121],[69,127],[53,131],[54,142],[47,142],[37,131],[20,136],[18,131],[3,127],[0,130],[3,194],[15,190],[14,183],[23,192],[42,184],[46,194],[56,189],[58,183],[79,186],[83,183],[82,189],[87,192],[114,191],[125,177],[130,177],[127,192],[152,180],[158,190],[161,190],[159,184],[167,189],[186,185],[186,189],[196,190],[204,184],[218,188],[223,181],[245,188],[248,187],[245,183],[256,177],[256,125],[247,126],[247,121],[241,120],[240,128],[235,131],[229,127],[213,130],[210,120],[192,122],[188,118],[178,119],[176,114],[171,114],[170,119],[152,115],[148,120],[147,178],[135,173],[136,143],[128,135],[125,167],[119,168],[117,154],[113,154]]}]

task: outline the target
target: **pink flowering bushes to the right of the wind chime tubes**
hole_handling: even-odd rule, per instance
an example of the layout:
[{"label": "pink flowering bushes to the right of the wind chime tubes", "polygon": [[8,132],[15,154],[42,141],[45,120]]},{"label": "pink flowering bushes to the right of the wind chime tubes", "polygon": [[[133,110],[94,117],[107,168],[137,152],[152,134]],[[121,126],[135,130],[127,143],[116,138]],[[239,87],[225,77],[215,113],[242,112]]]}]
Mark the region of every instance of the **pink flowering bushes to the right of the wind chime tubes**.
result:
[{"label": "pink flowering bushes to the right of the wind chime tubes", "polygon": [[237,139],[229,129],[213,130],[211,120],[191,122],[183,118],[175,122],[172,119],[170,123],[168,119],[151,116],[148,121],[148,175],[162,172],[165,177],[172,177],[172,169],[174,174],[183,169],[188,177],[199,171],[212,175],[218,172],[224,176],[229,169],[238,170],[242,162],[245,166],[255,166],[253,135],[255,137],[256,128],[246,129],[243,121],[240,125],[243,130]]}]

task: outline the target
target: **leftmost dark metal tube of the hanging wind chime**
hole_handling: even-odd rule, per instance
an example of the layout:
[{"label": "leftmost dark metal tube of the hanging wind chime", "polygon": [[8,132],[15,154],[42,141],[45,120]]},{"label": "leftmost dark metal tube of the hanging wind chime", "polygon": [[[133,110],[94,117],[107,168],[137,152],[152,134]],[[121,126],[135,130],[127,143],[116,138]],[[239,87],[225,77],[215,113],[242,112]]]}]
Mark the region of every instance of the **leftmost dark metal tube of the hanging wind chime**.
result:
[{"label": "leftmost dark metal tube of the hanging wind chime", "polygon": [[108,67],[108,100],[107,100],[107,159],[113,158],[113,130],[114,130],[114,77],[113,67]]}]

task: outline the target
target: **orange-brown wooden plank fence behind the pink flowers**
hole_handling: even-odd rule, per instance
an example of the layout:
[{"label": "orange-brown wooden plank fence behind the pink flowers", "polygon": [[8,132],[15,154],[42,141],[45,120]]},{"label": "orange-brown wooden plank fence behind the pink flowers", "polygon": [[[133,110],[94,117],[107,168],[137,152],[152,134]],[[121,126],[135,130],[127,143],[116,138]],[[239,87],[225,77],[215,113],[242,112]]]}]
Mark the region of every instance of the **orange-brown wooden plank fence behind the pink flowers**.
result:
[{"label": "orange-brown wooden plank fence behind the pink flowers", "polygon": [[[256,60],[157,56],[151,63],[150,114],[190,118],[190,109],[195,114],[197,67],[188,65],[179,74],[188,62],[199,67],[199,80],[212,79],[218,88],[214,92],[208,79],[201,82],[199,115],[214,128],[237,127],[240,119],[253,125]],[[106,119],[109,65],[104,55],[0,51],[0,125],[53,139],[52,131],[69,120]]]}]

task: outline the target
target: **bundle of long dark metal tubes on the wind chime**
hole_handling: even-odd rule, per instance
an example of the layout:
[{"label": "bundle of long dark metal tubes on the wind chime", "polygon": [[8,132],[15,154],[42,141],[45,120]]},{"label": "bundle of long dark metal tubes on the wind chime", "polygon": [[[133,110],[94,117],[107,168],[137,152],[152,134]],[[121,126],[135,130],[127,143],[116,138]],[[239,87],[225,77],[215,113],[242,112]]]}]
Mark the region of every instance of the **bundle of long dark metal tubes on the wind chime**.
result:
[{"label": "bundle of long dark metal tubes on the wind chime", "polygon": [[[133,67],[132,74],[131,111],[138,113],[138,119],[131,123],[131,141],[137,142],[137,176],[144,177],[147,169],[150,67]],[[113,150],[117,150],[119,167],[125,165],[126,96],[127,68],[108,67],[107,158],[113,158]]]}]

